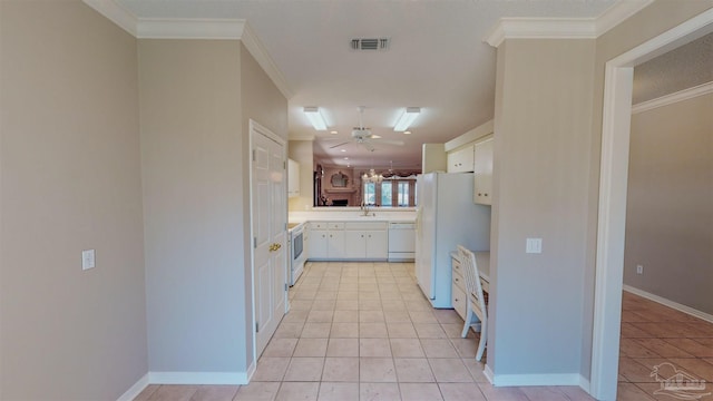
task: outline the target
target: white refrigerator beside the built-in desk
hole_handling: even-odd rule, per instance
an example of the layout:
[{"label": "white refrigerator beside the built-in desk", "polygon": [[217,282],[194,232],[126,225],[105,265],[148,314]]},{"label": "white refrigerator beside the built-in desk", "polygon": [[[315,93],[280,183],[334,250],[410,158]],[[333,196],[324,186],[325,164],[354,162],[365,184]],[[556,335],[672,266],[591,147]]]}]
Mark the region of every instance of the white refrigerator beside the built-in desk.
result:
[{"label": "white refrigerator beside the built-in desk", "polygon": [[490,206],[473,203],[472,173],[417,177],[416,278],[433,307],[451,303],[450,253],[490,250]]}]

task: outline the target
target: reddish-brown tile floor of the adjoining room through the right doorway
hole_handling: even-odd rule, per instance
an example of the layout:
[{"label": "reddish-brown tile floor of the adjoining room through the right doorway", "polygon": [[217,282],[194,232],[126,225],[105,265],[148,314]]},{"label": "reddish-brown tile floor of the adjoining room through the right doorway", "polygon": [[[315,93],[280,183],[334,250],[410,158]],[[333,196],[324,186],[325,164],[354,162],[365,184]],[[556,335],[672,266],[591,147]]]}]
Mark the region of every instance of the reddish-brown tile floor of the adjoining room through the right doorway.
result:
[{"label": "reddish-brown tile floor of the adjoining room through the right doorway", "polygon": [[[658,375],[652,374],[656,365]],[[702,395],[691,400],[713,400],[713,324],[624,292],[617,400],[683,399],[661,391],[660,380],[675,370],[706,381],[704,390],[686,391]]]}]

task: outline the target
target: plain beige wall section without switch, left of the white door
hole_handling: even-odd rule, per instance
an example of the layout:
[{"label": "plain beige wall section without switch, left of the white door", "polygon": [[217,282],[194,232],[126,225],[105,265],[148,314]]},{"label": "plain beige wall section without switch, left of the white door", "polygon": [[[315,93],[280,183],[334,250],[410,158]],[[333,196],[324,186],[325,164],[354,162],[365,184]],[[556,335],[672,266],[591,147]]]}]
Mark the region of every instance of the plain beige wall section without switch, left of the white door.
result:
[{"label": "plain beige wall section without switch, left of the white door", "polygon": [[246,368],[240,69],[237,41],[139,40],[152,372]]}]

